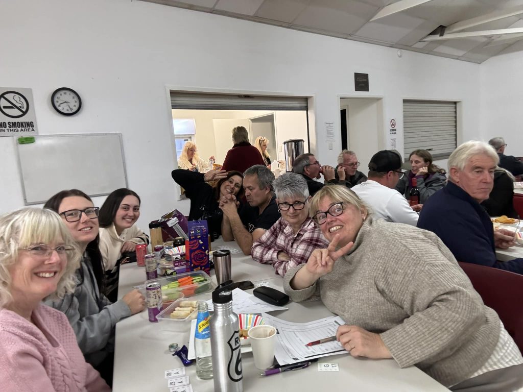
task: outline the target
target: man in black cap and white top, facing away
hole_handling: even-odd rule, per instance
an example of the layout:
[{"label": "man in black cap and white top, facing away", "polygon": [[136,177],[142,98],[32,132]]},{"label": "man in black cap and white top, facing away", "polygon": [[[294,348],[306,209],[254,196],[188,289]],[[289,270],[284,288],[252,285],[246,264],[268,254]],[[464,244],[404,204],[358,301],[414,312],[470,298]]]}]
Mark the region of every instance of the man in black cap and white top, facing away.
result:
[{"label": "man in black cap and white top, facing away", "polygon": [[394,187],[404,176],[401,171],[401,156],[389,150],[380,151],[369,162],[369,179],[351,188],[366,202],[374,216],[388,222],[406,223],[416,226],[418,214]]}]

